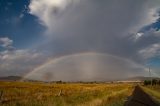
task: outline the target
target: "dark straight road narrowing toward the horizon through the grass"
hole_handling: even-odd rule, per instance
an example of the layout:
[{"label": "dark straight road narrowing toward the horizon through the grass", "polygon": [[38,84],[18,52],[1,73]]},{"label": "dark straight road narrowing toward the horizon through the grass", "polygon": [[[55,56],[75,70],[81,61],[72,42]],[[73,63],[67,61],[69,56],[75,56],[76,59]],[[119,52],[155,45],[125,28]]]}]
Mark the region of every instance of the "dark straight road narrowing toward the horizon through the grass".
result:
[{"label": "dark straight road narrowing toward the horizon through the grass", "polygon": [[159,106],[148,94],[146,94],[139,86],[135,90],[125,106]]}]

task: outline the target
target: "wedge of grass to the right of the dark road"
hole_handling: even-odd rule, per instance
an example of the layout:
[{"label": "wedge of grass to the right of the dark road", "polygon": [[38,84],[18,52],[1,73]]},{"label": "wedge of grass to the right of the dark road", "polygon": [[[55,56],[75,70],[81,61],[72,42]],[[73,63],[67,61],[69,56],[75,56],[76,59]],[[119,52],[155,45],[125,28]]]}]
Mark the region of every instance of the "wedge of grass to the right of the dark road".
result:
[{"label": "wedge of grass to the right of the dark road", "polygon": [[160,103],[160,85],[143,86],[142,89]]}]

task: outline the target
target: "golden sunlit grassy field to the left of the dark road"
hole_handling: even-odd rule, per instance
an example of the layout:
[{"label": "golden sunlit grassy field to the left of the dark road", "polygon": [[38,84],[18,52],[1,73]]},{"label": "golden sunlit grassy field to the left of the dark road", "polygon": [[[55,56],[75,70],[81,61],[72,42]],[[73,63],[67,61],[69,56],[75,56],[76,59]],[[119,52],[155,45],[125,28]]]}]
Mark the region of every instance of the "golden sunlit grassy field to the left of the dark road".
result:
[{"label": "golden sunlit grassy field to the left of the dark road", "polygon": [[1,106],[123,106],[133,84],[0,82]]}]

